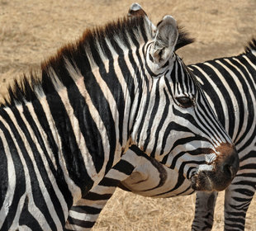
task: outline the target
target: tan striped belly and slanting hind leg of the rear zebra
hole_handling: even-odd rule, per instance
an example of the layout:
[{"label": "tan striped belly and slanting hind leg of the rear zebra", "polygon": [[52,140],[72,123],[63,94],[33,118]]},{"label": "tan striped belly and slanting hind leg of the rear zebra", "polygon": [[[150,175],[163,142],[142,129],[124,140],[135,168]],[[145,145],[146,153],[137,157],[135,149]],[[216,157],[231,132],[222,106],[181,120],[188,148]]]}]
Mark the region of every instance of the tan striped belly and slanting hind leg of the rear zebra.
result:
[{"label": "tan striped belly and slanting hind leg of the rear zebra", "polygon": [[164,166],[133,145],[99,185],[69,210],[66,230],[91,230],[117,186],[155,198],[187,196],[194,192],[191,182],[178,174],[177,169]]}]

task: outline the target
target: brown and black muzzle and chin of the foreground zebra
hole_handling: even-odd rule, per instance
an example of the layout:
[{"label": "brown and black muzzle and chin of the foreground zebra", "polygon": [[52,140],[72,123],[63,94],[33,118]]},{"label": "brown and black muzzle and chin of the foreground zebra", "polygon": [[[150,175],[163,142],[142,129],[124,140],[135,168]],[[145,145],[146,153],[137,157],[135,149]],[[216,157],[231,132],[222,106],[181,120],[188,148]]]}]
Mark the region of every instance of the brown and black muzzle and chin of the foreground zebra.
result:
[{"label": "brown and black muzzle and chin of the foreground zebra", "polygon": [[192,189],[196,191],[222,191],[230,185],[239,170],[239,157],[231,144],[221,144],[217,148],[216,160],[211,163],[212,169],[202,167],[191,177]]}]

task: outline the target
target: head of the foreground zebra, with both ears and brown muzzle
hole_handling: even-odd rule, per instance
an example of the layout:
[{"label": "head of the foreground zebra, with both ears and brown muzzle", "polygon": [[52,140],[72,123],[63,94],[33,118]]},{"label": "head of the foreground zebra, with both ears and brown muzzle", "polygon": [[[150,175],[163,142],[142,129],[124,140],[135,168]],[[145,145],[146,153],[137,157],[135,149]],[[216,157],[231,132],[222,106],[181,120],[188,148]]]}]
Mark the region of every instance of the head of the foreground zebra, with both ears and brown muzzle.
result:
[{"label": "head of the foreground zebra, with both ears and brown muzzle", "polygon": [[129,16],[142,15],[151,39],[140,49],[145,61],[135,73],[141,76],[143,93],[131,112],[131,144],[177,168],[194,190],[224,190],[238,171],[239,158],[196,78],[175,53],[192,40],[178,30],[172,16],[154,26],[140,5],[130,7]]}]

